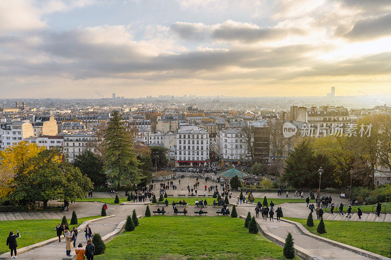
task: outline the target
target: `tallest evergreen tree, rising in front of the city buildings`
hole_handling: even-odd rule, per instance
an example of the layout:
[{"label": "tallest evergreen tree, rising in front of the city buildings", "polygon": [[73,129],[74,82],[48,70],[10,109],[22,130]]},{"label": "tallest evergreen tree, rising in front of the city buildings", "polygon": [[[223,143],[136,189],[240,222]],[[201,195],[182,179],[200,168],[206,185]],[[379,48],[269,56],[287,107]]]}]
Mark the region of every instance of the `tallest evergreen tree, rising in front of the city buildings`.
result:
[{"label": "tallest evergreen tree, rising in front of the city buildings", "polygon": [[112,113],[104,130],[103,158],[105,172],[111,184],[138,184],[140,182],[139,160],[134,151],[133,138],[126,130],[118,111]]}]

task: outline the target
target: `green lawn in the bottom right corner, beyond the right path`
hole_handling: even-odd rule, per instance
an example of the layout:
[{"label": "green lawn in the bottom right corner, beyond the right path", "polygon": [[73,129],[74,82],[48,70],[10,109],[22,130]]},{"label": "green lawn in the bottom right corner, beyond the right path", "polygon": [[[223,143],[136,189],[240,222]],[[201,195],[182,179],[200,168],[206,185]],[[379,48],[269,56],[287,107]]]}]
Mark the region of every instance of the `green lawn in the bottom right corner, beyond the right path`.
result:
[{"label": "green lawn in the bottom right corner, beyond the right path", "polygon": [[319,224],[319,220],[314,220],[313,227],[307,227],[306,219],[284,219],[301,223],[315,235],[390,257],[390,222],[324,220],[327,233],[318,234],[316,228]]}]

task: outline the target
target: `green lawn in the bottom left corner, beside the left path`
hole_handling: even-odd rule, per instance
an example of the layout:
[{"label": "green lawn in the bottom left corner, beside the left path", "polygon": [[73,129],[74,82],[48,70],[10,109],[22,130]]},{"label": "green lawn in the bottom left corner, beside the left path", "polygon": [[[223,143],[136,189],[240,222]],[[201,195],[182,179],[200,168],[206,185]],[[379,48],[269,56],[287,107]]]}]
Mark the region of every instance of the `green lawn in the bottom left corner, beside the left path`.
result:
[{"label": "green lawn in the bottom left corner, beside the left path", "polygon": [[[83,221],[93,220],[101,218],[101,216],[79,218],[77,225],[69,225],[69,228],[73,226],[79,226]],[[56,237],[57,223],[61,223],[61,220],[5,220],[0,221],[0,254],[8,251],[5,241],[9,235],[9,232],[13,230],[16,233],[18,229],[21,233],[21,237],[17,239],[18,248],[32,245],[44,240],[48,240]],[[70,223],[70,219],[68,220]]]}]

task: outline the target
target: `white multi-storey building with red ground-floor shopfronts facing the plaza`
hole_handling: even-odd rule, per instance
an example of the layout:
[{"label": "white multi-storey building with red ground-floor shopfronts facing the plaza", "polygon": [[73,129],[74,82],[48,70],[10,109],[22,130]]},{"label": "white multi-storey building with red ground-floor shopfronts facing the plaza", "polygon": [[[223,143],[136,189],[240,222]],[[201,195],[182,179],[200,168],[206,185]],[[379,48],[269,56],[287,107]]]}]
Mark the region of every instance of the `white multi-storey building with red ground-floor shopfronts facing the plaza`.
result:
[{"label": "white multi-storey building with red ground-floor shopfronts facing the plaza", "polygon": [[209,134],[204,129],[181,126],[176,134],[176,166],[206,166],[209,159]]}]

